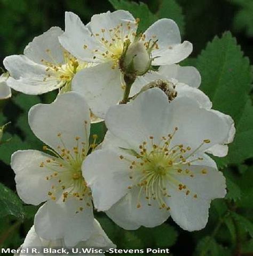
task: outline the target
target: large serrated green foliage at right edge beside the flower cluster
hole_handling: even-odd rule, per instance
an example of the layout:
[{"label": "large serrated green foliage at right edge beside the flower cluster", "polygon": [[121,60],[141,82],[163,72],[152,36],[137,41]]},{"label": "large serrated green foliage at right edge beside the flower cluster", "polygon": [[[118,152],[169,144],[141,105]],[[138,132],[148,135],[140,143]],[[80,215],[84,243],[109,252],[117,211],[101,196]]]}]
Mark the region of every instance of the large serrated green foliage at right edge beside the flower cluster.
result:
[{"label": "large serrated green foliage at right edge beside the flower cluster", "polygon": [[[248,101],[251,85],[249,59],[243,57],[240,46],[230,32],[217,36],[197,58],[197,69],[202,76],[200,89],[207,94],[214,109],[232,116],[236,135],[228,156],[217,160],[219,167],[228,163],[241,163],[253,156],[253,144],[246,136],[252,135],[252,107]],[[248,101],[248,103],[247,103]]]}]

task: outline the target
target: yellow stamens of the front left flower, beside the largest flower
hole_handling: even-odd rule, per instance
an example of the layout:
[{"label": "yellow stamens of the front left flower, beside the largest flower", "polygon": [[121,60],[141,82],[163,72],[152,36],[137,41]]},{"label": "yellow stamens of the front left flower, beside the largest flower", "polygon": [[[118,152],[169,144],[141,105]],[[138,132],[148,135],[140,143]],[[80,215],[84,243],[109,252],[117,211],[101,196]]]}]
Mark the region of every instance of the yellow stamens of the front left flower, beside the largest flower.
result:
[{"label": "yellow stamens of the front left flower, beside the largest flower", "polygon": [[[89,141],[86,129],[87,124],[85,122],[84,126],[86,141]],[[57,151],[43,146],[43,150],[48,150],[54,156],[49,157],[39,164],[39,167],[51,171],[51,174],[45,177],[52,184],[48,195],[52,200],[61,198],[63,202],[70,197],[74,197],[77,200],[84,201],[84,204],[90,207],[91,191],[82,176],[81,167],[88,152],[91,152],[97,146],[97,135],[93,135],[93,143],[91,145],[85,141],[81,141],[81,138],[76,136],[74,138],[76,145],[71,149],[66,148],[61,133],[58,133],[57,137],[60,142]],[[77,212],[80,212],[80,209]]]}]

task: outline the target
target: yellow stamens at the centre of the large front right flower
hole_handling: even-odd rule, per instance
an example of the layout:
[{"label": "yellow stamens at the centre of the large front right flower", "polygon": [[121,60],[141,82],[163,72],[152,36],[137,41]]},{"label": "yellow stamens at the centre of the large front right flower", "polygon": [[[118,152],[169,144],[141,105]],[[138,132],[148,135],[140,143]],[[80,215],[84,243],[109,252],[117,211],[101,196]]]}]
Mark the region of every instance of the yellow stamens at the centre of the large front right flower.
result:
[{"label": "yellow stamens at the centre of the large front right flower", "polygon": [[201,157],[193,159],[193,155],[204,145],[210,143],[210,140],[203,140],[202,143],[194,150],[189,146],[171,145],[172,139],[177,132],[175,128],[172,134],[161,138],[158,144],[154,143],[154,137],[150,136],[147,141],[139,145],[139,152],[136,152],[136,160],[132,161],[120,155],[121,160],[130,162],[129,178],[133,181],[133,186],[128,189],[138,187],[137,208],[141,207],[140,197],[145,196],[147,204],[151,206],[157,202],[160,209],[169,210],[167,198],[171,195],[167,188],[173,186],[179,192],[185,195],[197,198],[197,194],[191,191],[186,184],[180,182],[180,177],[188,176],[194,178],[195,175],[207,174],[206,169],[195,173],[191,170],[191,165],[195,161],[202,161]]}]

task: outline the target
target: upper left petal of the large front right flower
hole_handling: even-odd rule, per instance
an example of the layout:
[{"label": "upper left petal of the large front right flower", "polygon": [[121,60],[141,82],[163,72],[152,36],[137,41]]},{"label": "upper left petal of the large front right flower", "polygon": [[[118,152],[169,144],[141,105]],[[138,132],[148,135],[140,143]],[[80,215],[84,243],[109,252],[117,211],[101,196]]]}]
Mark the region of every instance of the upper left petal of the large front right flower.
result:
[{"label": "upper left petal of the large front right flower", "polygon": [[168,134],[171,115],[167,96],[153,88],[128,104],[111,107],[106,126],[113,135],[131,145],[131,149],[139,150],[139,145],[150,136],[154,136],[156,143],[161,140],[161,134]]}]

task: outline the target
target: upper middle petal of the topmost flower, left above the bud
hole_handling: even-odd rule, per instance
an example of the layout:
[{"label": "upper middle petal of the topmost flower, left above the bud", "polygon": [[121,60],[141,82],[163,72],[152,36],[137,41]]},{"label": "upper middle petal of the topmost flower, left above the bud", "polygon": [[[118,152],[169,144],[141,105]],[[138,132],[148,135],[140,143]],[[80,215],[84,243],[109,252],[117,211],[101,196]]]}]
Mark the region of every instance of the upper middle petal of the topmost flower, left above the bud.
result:
[{"label": "upper middle petal of the topmost flower, left above the bud", "polygon": [[[133,18],[130,12],[124,10],[94,14],[89,23],[89,29],[93,34],[100,34],[108,41],[112,39],[112,34],[114,34],[114,32],[109,30],[117,26],[121,26],[120,36],[122,40],[125,39],[126,35],[132,34],[137,30],[135,18]],[[129,26],[130,29],[128,28]],[[105,31],[101,32],[101,29]]]}]

